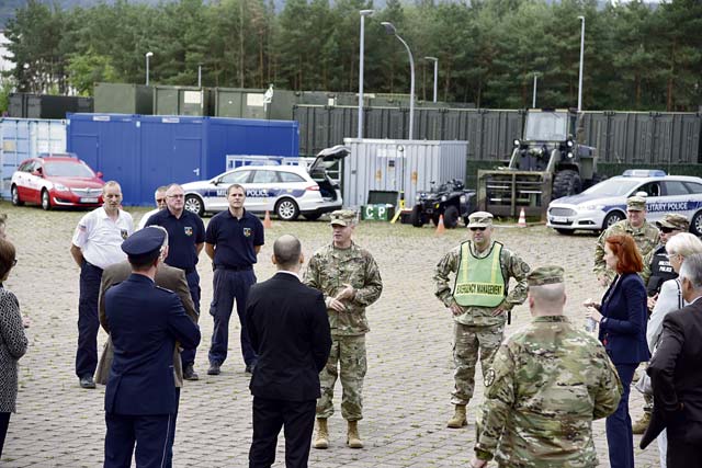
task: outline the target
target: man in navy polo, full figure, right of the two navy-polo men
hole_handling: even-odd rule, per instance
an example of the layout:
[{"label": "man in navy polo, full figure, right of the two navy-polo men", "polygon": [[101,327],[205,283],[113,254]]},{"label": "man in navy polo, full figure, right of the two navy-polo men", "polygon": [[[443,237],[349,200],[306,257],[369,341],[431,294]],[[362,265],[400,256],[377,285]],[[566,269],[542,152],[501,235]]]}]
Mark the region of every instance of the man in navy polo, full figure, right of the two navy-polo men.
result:
[{"label": "man in navy polo, full figure, right of the two navy-polo men", "polygon": [[229,318],[235,299],[241,324],[241,354],[246,373],[253,372],[258,359],[246,330],[245,311],[249,288],[256,283],[253,264],[263,246],[263,225],[244,208],[246,191],[241,185],[230,185],[227,199],[229,209],[215,215],[205,233],[205,252],[215,267],[214,297],[210,306],[210,315],[215,322],[210,346],[210,375],[218,375],[222,363],[227,358]]}]

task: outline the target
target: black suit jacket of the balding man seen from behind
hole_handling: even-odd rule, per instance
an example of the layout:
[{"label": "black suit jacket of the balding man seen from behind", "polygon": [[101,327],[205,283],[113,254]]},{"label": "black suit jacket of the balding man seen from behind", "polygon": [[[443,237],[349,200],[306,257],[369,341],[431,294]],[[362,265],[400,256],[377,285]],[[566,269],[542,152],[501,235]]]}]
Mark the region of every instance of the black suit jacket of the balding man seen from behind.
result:
[{"label": "black suit jacket of the balding man seen from behind", "polygon": [[246,323],[259,355],[249,385],[251,393],[285,401],[319,398],[319,372],[331,349],[321,293],[279,272],[251,286]]}]

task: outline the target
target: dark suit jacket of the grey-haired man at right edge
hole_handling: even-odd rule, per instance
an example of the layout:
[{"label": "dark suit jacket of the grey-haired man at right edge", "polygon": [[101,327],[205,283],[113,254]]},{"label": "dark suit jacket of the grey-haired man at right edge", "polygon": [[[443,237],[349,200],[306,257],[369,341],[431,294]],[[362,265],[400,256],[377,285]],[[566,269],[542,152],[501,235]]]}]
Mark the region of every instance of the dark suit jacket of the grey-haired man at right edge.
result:
[{"label": "dark suit jacket of the grey-haired man at right edge", "polygon": [[654,413],[641,447],[664,429],[669,440],[702,445],[702,299],[666,316],[663,339],[647,372]]}]

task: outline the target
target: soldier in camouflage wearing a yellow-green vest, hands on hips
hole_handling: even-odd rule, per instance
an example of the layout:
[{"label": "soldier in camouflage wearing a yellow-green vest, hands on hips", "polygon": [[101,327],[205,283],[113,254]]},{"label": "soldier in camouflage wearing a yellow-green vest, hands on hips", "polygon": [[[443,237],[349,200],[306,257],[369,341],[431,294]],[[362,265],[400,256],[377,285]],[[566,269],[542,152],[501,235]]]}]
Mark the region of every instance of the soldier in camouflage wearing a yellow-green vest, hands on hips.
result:
[{"label": "soldier in camouflage wearing a yellow-green vest, hands on hips", "polygon": [[[526,298],[529,265],[492,238],[492,215],[468,216],[471,240],[455,247],[437,265],[435,295],[451,309],[454,320],[453,418],[446,424],[467,425],[465,408],[473,397],[475,364],[480,356],[483,372],[502,341],[506,316]],[[449,276],[454,273],[453,285]],[[511,293],[509,278],[517,279]],[[453,287],[452,287],[453,286]]]}]

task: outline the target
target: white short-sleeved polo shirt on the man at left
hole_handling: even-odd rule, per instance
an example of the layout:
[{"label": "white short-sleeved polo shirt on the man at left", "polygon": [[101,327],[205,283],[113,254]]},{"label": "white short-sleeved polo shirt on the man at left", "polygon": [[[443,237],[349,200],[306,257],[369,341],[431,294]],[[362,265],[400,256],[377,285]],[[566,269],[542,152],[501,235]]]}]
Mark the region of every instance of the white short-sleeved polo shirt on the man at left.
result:
[{"label": "white short-sleeved polo shirt on the man at left", "polygon": [[83,216],[73,232],[73,246],[80,248],[88,263],[106,269],[127,259],[122,242],[134,232],[132,215],[120,209],[113,221],[103,207]]}]

